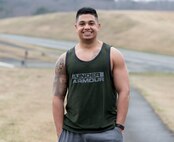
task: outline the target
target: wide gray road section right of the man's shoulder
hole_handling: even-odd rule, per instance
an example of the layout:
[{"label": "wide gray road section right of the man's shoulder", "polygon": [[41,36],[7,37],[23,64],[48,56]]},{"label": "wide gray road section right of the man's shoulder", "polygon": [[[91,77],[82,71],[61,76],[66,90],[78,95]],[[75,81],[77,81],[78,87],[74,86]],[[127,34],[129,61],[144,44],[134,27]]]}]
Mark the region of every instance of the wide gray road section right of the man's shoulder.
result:
[{"label": "wide gray road section right of the man's shoulder", "polygon": [[174,72],[174,57],[119,49],[130,72]]}]

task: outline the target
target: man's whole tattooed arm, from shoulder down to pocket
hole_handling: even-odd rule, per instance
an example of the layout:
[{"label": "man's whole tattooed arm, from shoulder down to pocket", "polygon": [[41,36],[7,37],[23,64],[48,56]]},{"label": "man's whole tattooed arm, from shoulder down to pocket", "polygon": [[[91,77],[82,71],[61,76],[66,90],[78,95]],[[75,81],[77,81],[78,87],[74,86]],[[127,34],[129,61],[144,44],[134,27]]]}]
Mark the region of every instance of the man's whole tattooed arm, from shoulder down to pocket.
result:
[{"label": "man's whole tattooed arm, from shoulder down to pocket", "polygon": [[62,132],[64,118],[64,99],[67,91],[67,76],[65,69],[66,53],[62,54],[56,62],[53,82],[52,111],[58,137]]}]

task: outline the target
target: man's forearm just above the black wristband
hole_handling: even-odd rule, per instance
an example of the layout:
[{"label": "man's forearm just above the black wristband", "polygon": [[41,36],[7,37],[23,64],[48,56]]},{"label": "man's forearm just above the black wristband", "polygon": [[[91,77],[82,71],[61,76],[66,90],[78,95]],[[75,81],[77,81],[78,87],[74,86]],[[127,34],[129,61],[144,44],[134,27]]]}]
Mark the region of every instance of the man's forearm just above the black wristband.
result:
[{"label": "man's forearm just above the black wristband", "polygon": [[116,123],[124,125],[128,112],[129,91],[120,92],[117,100],[117,120]]}]

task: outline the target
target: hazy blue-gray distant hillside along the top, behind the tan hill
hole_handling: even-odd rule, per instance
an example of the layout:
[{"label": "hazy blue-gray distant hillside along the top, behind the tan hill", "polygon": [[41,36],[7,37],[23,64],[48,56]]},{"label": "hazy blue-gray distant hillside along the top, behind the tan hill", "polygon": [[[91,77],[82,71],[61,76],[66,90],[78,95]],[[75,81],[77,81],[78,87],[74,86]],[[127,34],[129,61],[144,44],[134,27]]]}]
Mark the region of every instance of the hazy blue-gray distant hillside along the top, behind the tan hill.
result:
[{"label": "hazy blue-gray distant hillside along the top, behind the tan hill", "polygon": [[76,11],[83,6],[103,10],[174,10],[174,0],[0,0],[0,18]]}]

